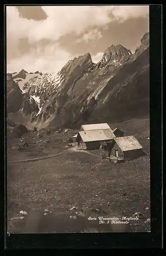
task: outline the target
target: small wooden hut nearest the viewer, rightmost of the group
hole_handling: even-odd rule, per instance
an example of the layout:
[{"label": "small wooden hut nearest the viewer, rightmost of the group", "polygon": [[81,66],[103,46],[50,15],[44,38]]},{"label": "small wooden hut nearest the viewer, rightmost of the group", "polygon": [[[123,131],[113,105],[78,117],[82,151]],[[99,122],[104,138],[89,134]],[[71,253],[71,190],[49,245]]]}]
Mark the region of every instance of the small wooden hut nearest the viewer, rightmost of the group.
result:
[{"label": "small wooden hut nearest the viewer, rightmost of the group", "polygon": [[143,155],[143,147],[134,136],[116,137],[109,146],[110,155],[133,160]]}]

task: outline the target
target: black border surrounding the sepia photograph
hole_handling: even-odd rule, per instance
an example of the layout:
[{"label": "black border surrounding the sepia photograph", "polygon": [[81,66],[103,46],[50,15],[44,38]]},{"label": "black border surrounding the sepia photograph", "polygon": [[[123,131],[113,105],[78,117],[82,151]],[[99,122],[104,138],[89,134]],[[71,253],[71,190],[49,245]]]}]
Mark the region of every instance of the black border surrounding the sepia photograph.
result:
[{"label": "black border surrounding the sepia photograph", "polygon": [[[9,4],[6,5],[15,5]],[[18,5],[18,4],[17,4]],[[21,5],[21,4],[19,4]],[[23,5],[23,4],[22,4]],[[39,5],[39,4],[34,4]],[[40,5],[45,5],[41,4]],[[67,4],[64,4],[67,5]],[[69,4],[68,4],[69,5]],[[74,5],[74,4],[73,4]],[[76,4],[75,4],[76,5]],[[86,5],[86,4],[85,4]],[[90,4],[87,4],[90,5]],[[91,4],[97,5],[97,4]],[[100,4],[101,5],[101,4]],[[104,4],[102,4],[104,5]],[[120,5],[120,4],[119,4]],[[139,4],[141,5],[141,4]],[[143,5],[143,4],[142,4]],[[2,8],[1,51],[2,77],[6,84],[6,24]],[[151,232],[135,233],[56,233],[56,234],[8,234],[6,220],[7,172],[6,172],[6,87],[1,84],[1,139],[4,152],[4,170],[1,170],[2,224],[5,220],[4,249],[112,249],[112,248],[162,248],[162,5],[150,5],[150,176],[151,176]],[[2,49],[2,48],[1,48]],[[5,59],[4,59],[5,58]],[[5,97],[5,98],[4,98]],[[3,104],[3,102],[5,102]],[[3,108],[4,106],[4,108]],[[4,143],[5,141],[5,143]],[[1,164],[3,161],[1,161]],[[5,183],[4,183],[5,181]],[[4,186],[5,185],[5,186]],[[3,207],[5,205],[5,207]],[[3,225],[1,225],[2,227]],[[2,240],[1,240],[2,241]]]}]

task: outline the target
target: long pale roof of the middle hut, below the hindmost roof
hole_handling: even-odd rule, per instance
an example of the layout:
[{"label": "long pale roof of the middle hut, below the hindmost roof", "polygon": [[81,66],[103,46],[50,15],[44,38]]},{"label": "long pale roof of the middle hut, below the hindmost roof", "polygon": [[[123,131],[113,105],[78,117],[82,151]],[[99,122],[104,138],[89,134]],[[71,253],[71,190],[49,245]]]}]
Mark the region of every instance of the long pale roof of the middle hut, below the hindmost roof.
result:
[{"label": "long pale roof of the middle hut, below the hindmost roof", "polygon": [[84,142],[112,140],[115,138],[111,129],[80,131],[78,134]]}]

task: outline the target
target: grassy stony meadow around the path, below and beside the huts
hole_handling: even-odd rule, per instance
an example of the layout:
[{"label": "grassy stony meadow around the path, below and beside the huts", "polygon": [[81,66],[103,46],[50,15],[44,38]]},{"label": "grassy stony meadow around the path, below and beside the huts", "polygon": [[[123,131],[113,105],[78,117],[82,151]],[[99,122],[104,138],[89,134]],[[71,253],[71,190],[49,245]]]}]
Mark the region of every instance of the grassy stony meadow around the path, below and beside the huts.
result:
[{"label": "grassy stony meadow around the path, below and beside the huts", "polygon": [[[146,122],[146,120],[145,120]],[[150,231],[150,160],[147,131],[140,133],[146,156],[113,163],[102,161],[99,151],[65,148],[70,135],[49,134],[37,139],[25,135],[29,146],[12,150],[8,142],[8,231],[9,232],[132,232]],[[73,131],[73,134],[75,132]],[[34,139],[35,138],[35,139]],[[52,141],[40,148],[40,143]],[[17,139],[18,140],[18,139]],[[42,140],[40,143],[36,141]],[[20,142],[21,143],[21,142]],[[34,162],[13,160],[61,153]],[[11,153],[12,152],[12,153]],[[26,211],[27,215],[19,211]],[[140,219],[128,224],[99,224],[98,217],[119,220],[141,212]],[[20,219],[20,217],[24,217]],[[97,220],[89,220],[96,217]]]}]

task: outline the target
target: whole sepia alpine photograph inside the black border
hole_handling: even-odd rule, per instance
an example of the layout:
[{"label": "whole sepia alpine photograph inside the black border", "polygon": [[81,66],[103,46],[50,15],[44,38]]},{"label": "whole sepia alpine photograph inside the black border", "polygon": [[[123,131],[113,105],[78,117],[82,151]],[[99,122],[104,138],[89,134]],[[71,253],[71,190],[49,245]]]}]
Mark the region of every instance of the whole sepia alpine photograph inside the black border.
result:
[{"label": "whole sepia alpine photograph inside the black border", "polygon": [[6,6],[8,233],[150,232],[149,6]]}]

